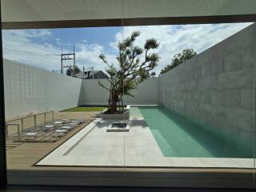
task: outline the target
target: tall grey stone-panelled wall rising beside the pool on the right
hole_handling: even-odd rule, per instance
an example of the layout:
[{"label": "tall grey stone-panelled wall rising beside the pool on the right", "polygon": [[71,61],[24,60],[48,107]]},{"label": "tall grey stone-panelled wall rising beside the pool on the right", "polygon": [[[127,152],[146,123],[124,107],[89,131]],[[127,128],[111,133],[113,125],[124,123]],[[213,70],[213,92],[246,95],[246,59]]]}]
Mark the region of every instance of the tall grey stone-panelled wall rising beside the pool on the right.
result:
[{"label": "tall grey stone-panelled wall rising beside the pool on the right", "polygon": [[245,142],[249,149],[255,129],[255,63],[254,24],[159,78],[159,102],[238,149]]}]

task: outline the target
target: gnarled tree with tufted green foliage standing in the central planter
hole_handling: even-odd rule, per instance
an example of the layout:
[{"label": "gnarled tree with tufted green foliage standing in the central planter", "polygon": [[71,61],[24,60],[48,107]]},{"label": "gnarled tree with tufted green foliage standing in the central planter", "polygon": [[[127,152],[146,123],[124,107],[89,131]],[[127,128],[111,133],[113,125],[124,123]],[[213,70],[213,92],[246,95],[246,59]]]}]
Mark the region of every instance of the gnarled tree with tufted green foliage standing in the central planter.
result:
[{"label": "gnarled tree with tufted green foliage standing in the central planter", "polygon": [[143,48],[135,46],[134,42],[139,35],[139,31],[134,31],[130,37],[118,43],[117,65],[110,64],[104,54],[99,55],[106,64],[106,73],[110,76],[110,86],[103,85],[100,81],[98,83],[110,92],[108,102],[111,114],[117,112],[117,104],[122,102],[123,95],[134,97],[130,90],[136,89],[139,83],[149,78],[151,70],[158,65],[158,54],[150,53],[150,50],[156,50],[159,42],[150,38],[146,40]]}]

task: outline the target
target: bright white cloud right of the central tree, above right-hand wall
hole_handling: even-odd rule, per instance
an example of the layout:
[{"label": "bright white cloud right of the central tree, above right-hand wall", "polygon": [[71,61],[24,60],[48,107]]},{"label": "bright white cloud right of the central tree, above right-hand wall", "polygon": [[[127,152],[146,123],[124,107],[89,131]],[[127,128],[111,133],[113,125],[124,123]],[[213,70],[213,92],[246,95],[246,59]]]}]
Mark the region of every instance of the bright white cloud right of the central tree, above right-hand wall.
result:
[{"label": "bright white cloud right of the central tree, above right-hand wall", "polygon": [[232,34],[237,33],[251,23],[234,24],[206,24],[183,26],[127,26],[123,35],[119,32],[115,35],[115,42],[110,46],[116,49],[119,41],[129,36],[134,30],[139,30],[141,35],[136,40],[136,45],[143,46],[147,38],[156,38],[160,46],[156,51],[160,56],[160,62],[155,69],[157,73],[170,64],[174,54],[186,48],[193,48],[198,54],[203,50],[214,46]]}]

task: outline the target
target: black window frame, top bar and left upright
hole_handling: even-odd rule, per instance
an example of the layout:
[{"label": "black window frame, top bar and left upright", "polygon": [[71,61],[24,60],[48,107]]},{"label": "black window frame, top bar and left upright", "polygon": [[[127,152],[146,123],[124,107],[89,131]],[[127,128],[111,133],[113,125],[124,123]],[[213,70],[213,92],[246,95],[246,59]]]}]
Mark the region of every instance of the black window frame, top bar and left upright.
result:
[{"label": "black window frame, top bar and left upright", "polygon": [[[0,21],[2,23],[1,1],[0,1]],[[70,28],[78,26],[146,26],[146,25],[172,25],[172,24],[202,24],[202,23],[227,23],[227,22],[256,22],[256,14],[246,15],[226,15],[226,16],[200,16],[186,18],[125,18],[123,19],[106,19],[98,21],[73,21]],[[94,23],[94,24],[93,24]],[[124,25],[122,25],[122,23]],[[5,26],[5,23],[3,23]],[[6,24],[7,25],[7,24]],[[38,25],[38,27],[33,27]],[[41,25],[41,27],[40,27]],[[18,23],[19,26],[25,28],[62,28],[65,26],[63,22],[42,22],[40,23]],[[8,28],[4,27],[4,28]],[[6,122],[5,122],[5,98],[4,98],[4,71],[3,71],[3,56],[2,56],[2,25],[0,31],[0,189],[7,186],[7,169],[6,169]],[[255,158],[255,157],[254,157]]]}]

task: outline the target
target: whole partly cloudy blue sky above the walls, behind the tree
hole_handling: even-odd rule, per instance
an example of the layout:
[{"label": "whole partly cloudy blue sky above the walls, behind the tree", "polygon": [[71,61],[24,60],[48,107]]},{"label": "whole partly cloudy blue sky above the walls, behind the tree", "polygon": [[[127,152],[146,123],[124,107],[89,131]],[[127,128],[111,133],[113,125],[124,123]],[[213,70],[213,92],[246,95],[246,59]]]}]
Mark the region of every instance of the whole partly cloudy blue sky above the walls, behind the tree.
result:
[{"label": "whole partly cloudy blue sky above the walls, behind the tree", "polygon": [[[225,38],[250,26],[252,23],[226,23],[204,25],[173,26],[118,26],[90,27],[71,29],[42,30],[3,30],[2,42],[4,58],[25,63],[45,70],[60,72],[61,51],[73,52],[75,47],[76,64],[82,69],[94,66],[94,70],[105,70],[106,65],[98,58],[103,53],[110,63],[117,64],[118,42],[130,36],[134,30],[141,32],[135,42],[143,46],[147,38],[156,38],[160,42],[158,53],[160,61],[154,69],[170,64],[174,54],[193,48],[198,54],[209,49]],[[152,53],[153,53],[152,52]],[[64,65],[70,65],[65,62]]]}]

